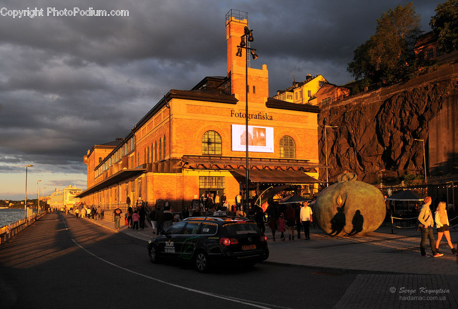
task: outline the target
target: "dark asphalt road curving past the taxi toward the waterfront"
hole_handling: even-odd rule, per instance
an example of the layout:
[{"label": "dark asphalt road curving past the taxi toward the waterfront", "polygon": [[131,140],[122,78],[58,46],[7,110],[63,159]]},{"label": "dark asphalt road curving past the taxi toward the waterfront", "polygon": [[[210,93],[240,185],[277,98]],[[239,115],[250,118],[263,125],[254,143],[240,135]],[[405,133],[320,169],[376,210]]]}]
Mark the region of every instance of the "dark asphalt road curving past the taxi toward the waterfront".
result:
[{"label": "dark asphalt road curving past the taxi toward the waterfront", "polygon": [[152,264],[147,242],[48,214],[0,246],[0,308],[330,308],[356,272]]}]

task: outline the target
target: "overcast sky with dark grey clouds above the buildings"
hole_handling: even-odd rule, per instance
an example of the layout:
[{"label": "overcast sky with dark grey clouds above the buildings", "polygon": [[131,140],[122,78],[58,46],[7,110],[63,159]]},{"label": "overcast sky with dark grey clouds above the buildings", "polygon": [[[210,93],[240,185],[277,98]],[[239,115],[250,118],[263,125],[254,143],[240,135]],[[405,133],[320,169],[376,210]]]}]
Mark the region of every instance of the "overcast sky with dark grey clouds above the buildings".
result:
[{"label": "overcast sky with dark grey clouds above the buildings", "polygon": [[[444,1],[413,1],[423,31]],[[85,189],[83,155],[125,137],[170,89],[226,75],[225,14],[248,12],[269,94],[307,73],[352,81],[353,50],[406,1],[0,0],[0,199],[36,198],[37,180]],[[8,16],[43,9],[44,16]],[[5,8],[5,9],[3,9]],[[47,16],[48,8],[128,10],[127,17]],[[11,14],[11,13],[10,13]]]}]

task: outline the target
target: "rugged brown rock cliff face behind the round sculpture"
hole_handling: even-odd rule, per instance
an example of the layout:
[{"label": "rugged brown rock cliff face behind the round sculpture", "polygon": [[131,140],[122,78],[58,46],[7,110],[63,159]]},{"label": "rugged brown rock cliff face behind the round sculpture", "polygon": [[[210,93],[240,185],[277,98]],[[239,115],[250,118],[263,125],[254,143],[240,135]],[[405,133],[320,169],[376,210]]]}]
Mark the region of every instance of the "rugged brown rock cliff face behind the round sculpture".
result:
[{"label": "rugged brown rock cliff face behind the round sculpture", "polygon": [[[427,175],[458,170],[458,64],[412,79],[402,85],[362,93],[322,107],[319,115],[320,162],[329,181],[345,170],[358,180],[394,180],[407,172]],[[434,139],[432,139],[434,138]],[[440,155],[440,154],[444,155]],[[320,170],[326,180],[326,170]]]}]

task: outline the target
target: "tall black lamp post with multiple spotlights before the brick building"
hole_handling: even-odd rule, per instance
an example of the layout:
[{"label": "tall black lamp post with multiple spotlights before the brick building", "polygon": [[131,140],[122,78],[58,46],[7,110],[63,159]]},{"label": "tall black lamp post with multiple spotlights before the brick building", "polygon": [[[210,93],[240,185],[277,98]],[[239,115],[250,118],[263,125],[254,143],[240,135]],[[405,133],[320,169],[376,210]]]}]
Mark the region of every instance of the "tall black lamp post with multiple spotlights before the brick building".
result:
[{"label": "tall black lamp post with multiple spotlights before the brick building", "polygon": [[237,53],[238,57],[242,57],[242,49],[245,49],[245,144],[246,144],[246,199],[244,205],[244,212],[247,211],[248,208],[248,201],[249,201],[249,172],[248,172],[248,50],[250,50],[251,57],[255,60],[259,57],[255,51],[256,49],[248,47],[248,42],[253,42],[253,34],[251,33],[253,30],[249,29],[247,26],[244,28],[244,34],[240,37],[240,45],[237,45]]}]

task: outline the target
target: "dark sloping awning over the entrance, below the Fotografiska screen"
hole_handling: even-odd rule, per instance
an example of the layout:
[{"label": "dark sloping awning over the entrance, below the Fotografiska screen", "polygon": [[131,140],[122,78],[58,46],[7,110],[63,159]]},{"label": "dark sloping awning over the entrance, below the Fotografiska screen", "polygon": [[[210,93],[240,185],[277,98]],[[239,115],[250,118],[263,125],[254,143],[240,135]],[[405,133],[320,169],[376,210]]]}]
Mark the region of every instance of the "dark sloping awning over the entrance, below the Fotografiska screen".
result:
[{"label": "dark sloping awning over the entrance, below the Fotografiska screen", "polygon": [[[233,171],[237,176],[245,177],[245,171]],[[319,183],[321,181],[308,176],[302,171],[262,171],[250,170],[248,174],[252,182],[267,182],[267,183],[284,183],[284,184],[306,184]]]}]

